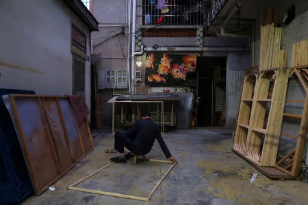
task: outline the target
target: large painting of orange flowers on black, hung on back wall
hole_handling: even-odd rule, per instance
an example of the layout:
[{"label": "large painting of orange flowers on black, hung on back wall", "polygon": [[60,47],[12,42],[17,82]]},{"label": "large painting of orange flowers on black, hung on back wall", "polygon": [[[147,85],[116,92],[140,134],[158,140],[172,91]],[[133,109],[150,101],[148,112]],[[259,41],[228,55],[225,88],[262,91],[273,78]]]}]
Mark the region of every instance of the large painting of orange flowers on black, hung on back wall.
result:
[{"label": "large painting of orange flowers on black, hung on back wall", "polygon": [[196,55],[146,54],[146,84],[181,85],[195,71]]}]

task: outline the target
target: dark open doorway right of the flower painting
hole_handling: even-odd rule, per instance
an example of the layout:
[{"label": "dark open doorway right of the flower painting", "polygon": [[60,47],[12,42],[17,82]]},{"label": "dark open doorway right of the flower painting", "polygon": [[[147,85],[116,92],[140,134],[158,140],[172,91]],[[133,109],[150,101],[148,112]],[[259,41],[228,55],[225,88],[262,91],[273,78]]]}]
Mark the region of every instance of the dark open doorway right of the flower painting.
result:
[{"label": "dark open doorway right of the flower painting", "polygon": [[197,126],[225,126],[226,58],[200,57],[196,100]]}]

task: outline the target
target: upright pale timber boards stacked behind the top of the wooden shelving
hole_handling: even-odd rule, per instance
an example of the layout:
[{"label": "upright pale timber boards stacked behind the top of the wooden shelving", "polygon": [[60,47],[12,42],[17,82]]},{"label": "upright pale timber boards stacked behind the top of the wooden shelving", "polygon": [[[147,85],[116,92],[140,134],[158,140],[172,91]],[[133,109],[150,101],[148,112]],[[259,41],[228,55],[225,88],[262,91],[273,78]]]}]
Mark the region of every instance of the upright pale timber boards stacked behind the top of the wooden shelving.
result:
[{"label": "upright pale timber boards stacked behind the top of the wooden shelving", "polygon": [[280,50],[281,31],[274,23],[261,27],[260,70],[287,66],[287,51]]}]

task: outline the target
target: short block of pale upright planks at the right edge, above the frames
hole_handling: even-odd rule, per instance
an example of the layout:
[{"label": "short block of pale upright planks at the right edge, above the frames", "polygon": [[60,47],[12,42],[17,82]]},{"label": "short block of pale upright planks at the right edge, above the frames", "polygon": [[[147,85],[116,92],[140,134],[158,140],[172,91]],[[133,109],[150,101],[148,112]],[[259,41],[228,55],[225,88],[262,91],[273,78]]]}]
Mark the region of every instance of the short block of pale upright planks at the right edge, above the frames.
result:
[{"label": "short block of pale upright planks at the right edge, above the frames", "polygon": [[308,65],[308,39],[293,44],[292,67]]}]

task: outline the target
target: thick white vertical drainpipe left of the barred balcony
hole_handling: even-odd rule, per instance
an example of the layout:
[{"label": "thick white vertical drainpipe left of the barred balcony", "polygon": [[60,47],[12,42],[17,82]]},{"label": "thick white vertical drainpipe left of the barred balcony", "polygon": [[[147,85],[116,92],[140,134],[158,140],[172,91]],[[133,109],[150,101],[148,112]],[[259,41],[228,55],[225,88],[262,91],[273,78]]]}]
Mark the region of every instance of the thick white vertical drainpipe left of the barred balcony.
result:
[{"label": "thick white vertical drainpipe left of the barred balcony", "polygon": [[136,56],[135,53],[135,42],[136,42],[136,0],[133,0],[133,27],[131,31],[131,94],[136,94],[135,85],[135,71],[136,71]]}]

